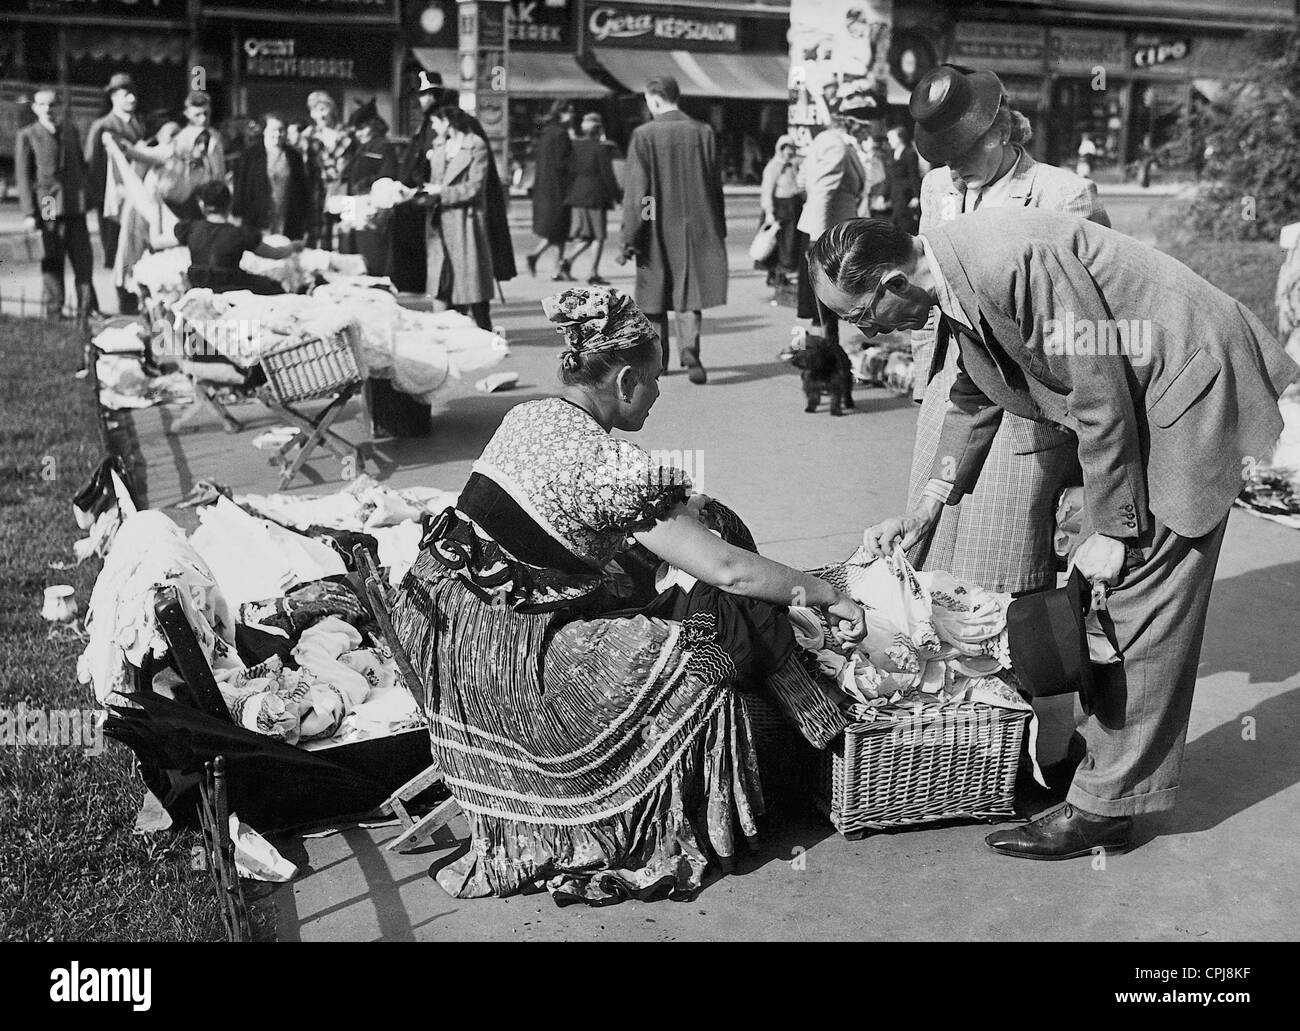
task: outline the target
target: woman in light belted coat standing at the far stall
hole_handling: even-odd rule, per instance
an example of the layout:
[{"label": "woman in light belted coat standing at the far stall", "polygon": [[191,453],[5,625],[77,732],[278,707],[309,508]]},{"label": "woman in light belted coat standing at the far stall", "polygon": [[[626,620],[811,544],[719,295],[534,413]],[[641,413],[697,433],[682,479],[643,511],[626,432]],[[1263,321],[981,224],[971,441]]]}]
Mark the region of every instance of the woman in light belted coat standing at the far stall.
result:
[{"label": "woman in light belted coat standing at the far stall", "polygon": [[488,242],[488,144],[460,108],[434,113],[434,144],[429,151],[429,294],[482,329],[491,329],[495,287],[491,244]]}]

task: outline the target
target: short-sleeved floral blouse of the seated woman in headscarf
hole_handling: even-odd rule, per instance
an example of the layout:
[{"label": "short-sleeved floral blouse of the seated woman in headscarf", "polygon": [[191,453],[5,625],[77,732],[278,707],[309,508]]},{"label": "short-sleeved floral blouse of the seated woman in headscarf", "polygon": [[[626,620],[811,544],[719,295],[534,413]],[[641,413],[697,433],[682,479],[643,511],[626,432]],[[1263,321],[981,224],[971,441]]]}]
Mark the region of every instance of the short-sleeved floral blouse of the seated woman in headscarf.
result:
[{"label": "short-sleeved floral blouse of the seated woman in headscarf", "polygon": [[611,437],[560,398],[512,408],[473,471],[571,553],[601,568],[692,493],[686,475]]}]

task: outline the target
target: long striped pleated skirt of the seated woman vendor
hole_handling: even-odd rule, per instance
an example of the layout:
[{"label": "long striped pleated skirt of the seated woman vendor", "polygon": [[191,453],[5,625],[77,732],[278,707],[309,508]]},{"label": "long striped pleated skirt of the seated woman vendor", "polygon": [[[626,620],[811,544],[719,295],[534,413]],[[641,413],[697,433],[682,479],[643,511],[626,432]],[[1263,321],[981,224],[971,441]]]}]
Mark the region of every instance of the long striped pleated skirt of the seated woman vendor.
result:
[{"label": "long striped pleated skirt of the seated woman vendor", "polygon": [[689,900],[757,835],[750,727],[708,612],[520,614],[421,554],[394,624],[469,818],[468,854],[437,874],[450,894]]}]

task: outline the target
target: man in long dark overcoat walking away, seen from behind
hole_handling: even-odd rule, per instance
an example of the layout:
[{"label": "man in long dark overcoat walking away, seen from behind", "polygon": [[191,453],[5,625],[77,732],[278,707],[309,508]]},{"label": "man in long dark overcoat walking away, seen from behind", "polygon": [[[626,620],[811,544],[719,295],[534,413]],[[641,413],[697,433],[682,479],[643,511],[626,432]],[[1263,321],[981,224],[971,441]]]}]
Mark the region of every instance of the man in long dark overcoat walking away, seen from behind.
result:
[{"label": "man in long dark overcoat walking away, seen from behind", "polygon": [[628,144],[623,191],[623,252],[637,255],[637,304],[659,328],[668,368],[668,312],[690,382],[707,382],[699,363],[703,308],[727,303],[727,215],[714,130],[677,109],[668,75],[645,90],[653,121]]}]

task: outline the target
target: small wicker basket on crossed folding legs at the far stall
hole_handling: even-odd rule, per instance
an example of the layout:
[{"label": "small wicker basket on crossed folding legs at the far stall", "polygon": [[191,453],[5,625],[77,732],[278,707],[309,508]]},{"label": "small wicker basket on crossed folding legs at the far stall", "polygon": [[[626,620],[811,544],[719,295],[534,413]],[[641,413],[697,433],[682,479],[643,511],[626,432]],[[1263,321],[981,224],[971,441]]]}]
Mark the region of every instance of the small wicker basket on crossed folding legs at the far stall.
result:
[{"label": "small wicker basket on crossed folding legs at the far stall", "polygon": [[[341,462],[352,460],[354,475],[360,473],[365,463],[363,447],[330,429],[364,384],[351,343],[320,337],[290,339],[264,354],[261,368],[266,373],[266,385],[259,391],[263,403],[298,426],[298,433],[281,445],[272,459],[280,465],[280,489],[289,486],[317,447]],[[315,415],[295,407],[324,398],[329,398],[329,403]]]}]

